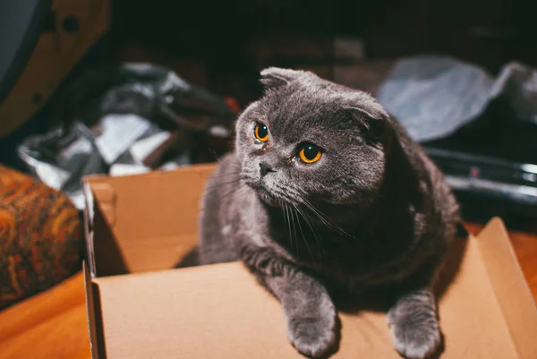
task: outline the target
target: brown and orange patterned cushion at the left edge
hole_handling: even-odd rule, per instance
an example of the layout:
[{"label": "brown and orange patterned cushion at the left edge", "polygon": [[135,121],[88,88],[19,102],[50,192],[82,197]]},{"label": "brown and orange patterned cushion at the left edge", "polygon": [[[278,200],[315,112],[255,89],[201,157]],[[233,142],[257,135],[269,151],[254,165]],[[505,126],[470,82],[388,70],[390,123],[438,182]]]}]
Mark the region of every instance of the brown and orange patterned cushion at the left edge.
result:
[{"label": "brown and orange patterned cushion at the left edge", "polygon": [[81,218],[61,192],[0,165],[0,309],[81,264]]}]

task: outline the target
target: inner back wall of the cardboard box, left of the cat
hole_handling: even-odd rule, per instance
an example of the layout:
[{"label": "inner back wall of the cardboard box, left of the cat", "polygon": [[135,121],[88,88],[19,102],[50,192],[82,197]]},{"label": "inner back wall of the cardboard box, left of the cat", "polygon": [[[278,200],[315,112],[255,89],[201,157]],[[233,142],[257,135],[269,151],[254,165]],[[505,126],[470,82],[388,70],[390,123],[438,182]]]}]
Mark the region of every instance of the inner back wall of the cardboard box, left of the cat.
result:
[{"label": "inner back wall of the cardboard box, left of the cat", "polygon": [[[197,244],[200,197],[214,165],[143,175],[89,176],[97,276],[174,268]],[[88,200],[89,201],[89,200]]]}]

